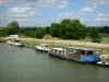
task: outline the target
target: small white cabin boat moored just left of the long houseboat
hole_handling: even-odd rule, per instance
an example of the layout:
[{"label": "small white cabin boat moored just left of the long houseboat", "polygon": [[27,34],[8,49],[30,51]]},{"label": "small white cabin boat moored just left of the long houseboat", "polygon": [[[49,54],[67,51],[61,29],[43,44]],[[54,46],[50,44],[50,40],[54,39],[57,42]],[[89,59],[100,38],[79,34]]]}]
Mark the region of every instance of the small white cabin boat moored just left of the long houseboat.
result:
[{"label": "small white cabin boat moored just left of the long houseboat", "polygon": [[49,44],[40,44],[39,46],[35,47],[36,51],[44,51],[48,52],[50,50]]}]

